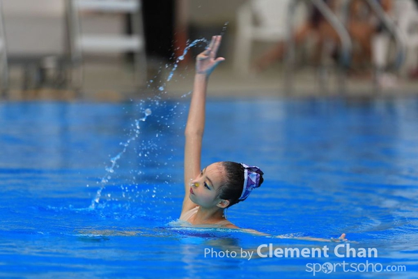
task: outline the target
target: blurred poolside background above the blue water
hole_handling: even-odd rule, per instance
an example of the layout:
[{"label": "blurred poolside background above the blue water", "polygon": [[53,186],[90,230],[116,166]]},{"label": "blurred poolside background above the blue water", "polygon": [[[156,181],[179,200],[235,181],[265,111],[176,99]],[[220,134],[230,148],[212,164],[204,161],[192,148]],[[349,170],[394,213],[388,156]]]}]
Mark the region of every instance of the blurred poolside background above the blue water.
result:
[{"label": "blurred poolside background above the blue water", "polygon": [[195,40],[215,34],[223,35],[218,54],[226,61],[212,74],[212,96],[418,92],[415,0],[0,4],[3,100],[182,96],[205,46]]}]

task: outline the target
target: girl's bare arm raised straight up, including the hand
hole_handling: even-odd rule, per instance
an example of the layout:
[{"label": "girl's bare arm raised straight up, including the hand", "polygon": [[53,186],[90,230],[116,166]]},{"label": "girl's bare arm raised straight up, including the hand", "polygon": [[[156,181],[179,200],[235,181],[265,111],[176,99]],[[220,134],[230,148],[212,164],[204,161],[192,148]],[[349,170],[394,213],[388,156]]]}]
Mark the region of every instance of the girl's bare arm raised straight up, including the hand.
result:
[{"label": "girl's bare arm raised straight up, including the hand", "polygon": [[196,58],[192,100],[190,101],[189,116],[185,129],[185,198],[183,200],[182,213],[196,206],[189,199],[189,183],[190,179],[196,178],[201,172],[201,146],[205,128],[206,88],[210,73],[212,73],[217,64],[225,60],[222,57],[216,57],[221,39],[221,36],[213,36],[209,47]]}]

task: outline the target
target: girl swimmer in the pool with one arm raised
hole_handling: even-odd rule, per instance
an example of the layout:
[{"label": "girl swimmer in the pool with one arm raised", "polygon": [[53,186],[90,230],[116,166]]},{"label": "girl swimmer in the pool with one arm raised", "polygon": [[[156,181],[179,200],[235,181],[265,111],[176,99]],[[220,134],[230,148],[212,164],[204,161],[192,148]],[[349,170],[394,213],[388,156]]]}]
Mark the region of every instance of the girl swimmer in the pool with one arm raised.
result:
[{"label": "girl swimmer in the pool with one arm raised", "polygon": [[[217,162],[201,169],[201,146],[205,128],[205,104],[208,79],[216,66],[224,61],[217,57],[222,36],[213,36],[208,48],[196,58],[196,74],[189,116],[185,129],[185,197],[180,220],[192,225],[238,229],[224,216],[224,210],[242,202],[254,188],[263,183],[263,172],[256,166],[243,163]],[[267,235],[253,229],[254,234]],[[277,236],[281,237],[281,236]],[[314,241],[346,240],[345,234],[339,239],[298,239]]]}]

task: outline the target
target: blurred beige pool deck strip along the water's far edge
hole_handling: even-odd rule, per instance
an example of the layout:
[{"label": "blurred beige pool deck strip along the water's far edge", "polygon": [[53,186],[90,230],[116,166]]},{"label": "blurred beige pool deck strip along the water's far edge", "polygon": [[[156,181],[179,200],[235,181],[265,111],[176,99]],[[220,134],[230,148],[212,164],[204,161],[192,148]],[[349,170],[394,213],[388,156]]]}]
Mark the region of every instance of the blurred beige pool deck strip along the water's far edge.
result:
[{"label": "blurred beige pool deck strip along the water's far edge", "polygon": [[[160,86],[164,87],[162,98],[180,98],[192,90],[194,76],[193,65],[180,65],[173,78],[167,82],[172,65],[165,67],[159,63],[148,70],[147,84],[139,88],[134,84],[132,67],[123,63],[98,64],[89,63],[85,66],[82,90],[54,89],[45,86],[41,89],[22,90],[22,74],[17,69],[10,73],[10,90],[5,100],[82,100],[98,102],[119,102],[124,100],[139,100],[161,94]],[[284,68],[280,65],[270,68],[257,75],[240,76],[233,72],[231,63],[221,64],[212,76],[208,88],[211,98],[276,98],[295,96],[297,98],[316,96],[339,96],[341,90],[335,73],[335,68],[329,68],[326,88],[320,86],[318,70],[303,67],[295,71],[293,91],[286,93],[284,86]],[[346,79],[345,96],[410,96],[418,94],[418,80],[398,78],[393,82],[389,78],[387,85],[376,91],[371,77],[348,77]],[[150,82],[153,80],[153,82]]]}]

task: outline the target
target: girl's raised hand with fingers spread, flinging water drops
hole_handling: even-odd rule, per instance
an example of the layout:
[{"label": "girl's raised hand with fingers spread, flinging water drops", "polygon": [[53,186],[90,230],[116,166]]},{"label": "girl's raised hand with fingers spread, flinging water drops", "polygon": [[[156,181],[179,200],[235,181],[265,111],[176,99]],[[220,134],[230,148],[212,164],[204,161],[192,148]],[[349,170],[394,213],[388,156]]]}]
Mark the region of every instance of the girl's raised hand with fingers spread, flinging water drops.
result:
[{"label": "girl's raised hand with fingers spread, flinging water drops", "polygon": [[196,73],[210,75],[216,66],[224,61],[224,57],[216,57],[222,36],[212,36],[208,48],[196,57]]}]

